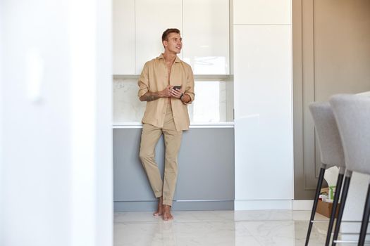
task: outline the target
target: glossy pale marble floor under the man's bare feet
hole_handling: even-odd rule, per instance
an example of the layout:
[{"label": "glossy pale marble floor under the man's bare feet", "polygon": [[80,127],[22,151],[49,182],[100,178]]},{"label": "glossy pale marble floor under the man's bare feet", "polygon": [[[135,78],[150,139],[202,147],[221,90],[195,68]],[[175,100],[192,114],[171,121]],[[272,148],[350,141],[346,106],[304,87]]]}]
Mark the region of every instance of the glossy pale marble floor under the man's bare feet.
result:
[{"label": "glossy pale marble floor under the man's bare feet", "polygon": [[[115,246],[159,245],[304,245],[309,211],[193,211],[173,212],[173,221],[150,212],[124,212],[114,216]],[[328,219],[314,224],[310,246],[324,245]]]}]

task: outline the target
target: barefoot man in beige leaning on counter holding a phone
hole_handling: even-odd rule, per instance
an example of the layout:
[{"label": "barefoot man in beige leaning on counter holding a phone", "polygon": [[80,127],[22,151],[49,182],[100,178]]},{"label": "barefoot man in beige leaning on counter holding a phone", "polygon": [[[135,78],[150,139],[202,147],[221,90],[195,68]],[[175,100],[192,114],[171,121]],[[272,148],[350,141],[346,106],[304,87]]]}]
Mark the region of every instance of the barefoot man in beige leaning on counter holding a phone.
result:
[{"label": "barefoot man in beige leaning on counter holding a phone", "polygon": [[[194,101],[195,94],[192,68],[177,56],[183,47],[180,31],[167,29],[162,34],[162,44],[164,53],[145,63],[137,84],[140,101],[147,101],[142,118],[140,160],[159,200],[154,216],[162,216],[168,221],[173,219],[171,206],[178,175],[181,137],[190,124],[187,104]],[[164,181],[154,156],[161,134],[164,134],[166,146]]]}]

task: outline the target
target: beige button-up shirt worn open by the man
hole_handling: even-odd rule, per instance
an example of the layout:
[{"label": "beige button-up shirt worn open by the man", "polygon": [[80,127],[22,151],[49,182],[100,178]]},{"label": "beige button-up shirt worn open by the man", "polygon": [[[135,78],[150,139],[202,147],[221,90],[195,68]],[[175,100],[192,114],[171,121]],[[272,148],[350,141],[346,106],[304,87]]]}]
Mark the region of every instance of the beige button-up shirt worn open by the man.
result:
[{"label": "beige button-up shirt worn open by the man", "polygon": [[[138,93],[139,98],[147,93],[147,91],[158,92],[166,89],[166,86],[168,86],[167,76],[167,66],[163,54],[145,63],[142,74],[137,82],[140,87]],[[191,98],[189,103],[194,101],[194,75],[192,73],[192,67],[178,57],[176,57],[171,67],[170,84],[173,86],[182,86],[181,92],[189,95]],[[147,102],[142,123],[152,124],[155,127],[163,127],[168,102],[168,98],[159,98],[155,101]],[[177,131],[189,129],[190,119],[187,112],[187,104],[178,98],[171,98],[173,121],[175,122]]]}]

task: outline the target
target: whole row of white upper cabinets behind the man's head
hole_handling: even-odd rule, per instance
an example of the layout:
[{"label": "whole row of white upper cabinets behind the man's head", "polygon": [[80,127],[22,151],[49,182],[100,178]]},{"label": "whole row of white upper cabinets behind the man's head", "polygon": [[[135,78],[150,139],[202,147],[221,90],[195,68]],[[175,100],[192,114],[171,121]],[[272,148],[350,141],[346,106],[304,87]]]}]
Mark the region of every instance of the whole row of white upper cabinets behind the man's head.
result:
[{"label": "whole row of white upper cabinets behind the man's head", "polygon": [[113,74],[140,75],[174,27],[195,75],[229,75],[229,23],[229,0],[113,0]]}]

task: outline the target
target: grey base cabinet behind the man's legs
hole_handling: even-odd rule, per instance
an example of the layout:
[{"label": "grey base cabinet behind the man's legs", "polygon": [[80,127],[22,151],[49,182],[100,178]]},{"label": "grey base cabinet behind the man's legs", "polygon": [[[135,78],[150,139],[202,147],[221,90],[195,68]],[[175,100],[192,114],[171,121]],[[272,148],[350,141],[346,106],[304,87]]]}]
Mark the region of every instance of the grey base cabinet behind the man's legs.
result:
[{"label": "grey base cabinet behind the man's legs", "polygon": [[[114,207],[116,212],[152,211],[156,198],[139,159],[142,129],[113,129]],[[156,145],[164,170],[164,141]],[[173,210],[234,208],[234,129],[184,131],[178,156]]]}]

